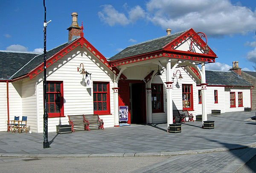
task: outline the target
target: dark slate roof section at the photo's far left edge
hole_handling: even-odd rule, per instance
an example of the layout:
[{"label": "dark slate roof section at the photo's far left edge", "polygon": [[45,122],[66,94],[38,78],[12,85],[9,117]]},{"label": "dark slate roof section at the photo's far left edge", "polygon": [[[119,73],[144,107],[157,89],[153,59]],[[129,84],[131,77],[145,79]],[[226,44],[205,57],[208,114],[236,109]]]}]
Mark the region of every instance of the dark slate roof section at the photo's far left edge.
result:
[{"label": "dark slate roof section at the photo's far left edge", "polygon": [[0,79],[9,79],[38,54],[20,51],[0,51]]}]

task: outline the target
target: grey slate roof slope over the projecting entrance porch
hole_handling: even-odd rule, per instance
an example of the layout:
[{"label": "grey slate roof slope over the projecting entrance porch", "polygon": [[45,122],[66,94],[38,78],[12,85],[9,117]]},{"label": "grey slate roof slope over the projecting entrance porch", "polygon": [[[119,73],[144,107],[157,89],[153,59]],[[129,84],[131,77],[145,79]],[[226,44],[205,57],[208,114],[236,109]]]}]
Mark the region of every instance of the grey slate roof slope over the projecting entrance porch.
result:
[{"label": "grey slate roof slope over the projecting entrance porch", "polygon": [[176,32],[170,35],[165,35],[163,37],[155,38],[152,40],[148,40],[142,43],[137,43],[134,45],[130,45],[124,50],[120,51],[118,54],[114,55],[113,57],[109,58],[108,60],[119,60],[126,57],[132,57],[139,54],[145,54],[152,51],[161,50],[163,46],[170,43],[175,38],[179,37],[185,31]]}]

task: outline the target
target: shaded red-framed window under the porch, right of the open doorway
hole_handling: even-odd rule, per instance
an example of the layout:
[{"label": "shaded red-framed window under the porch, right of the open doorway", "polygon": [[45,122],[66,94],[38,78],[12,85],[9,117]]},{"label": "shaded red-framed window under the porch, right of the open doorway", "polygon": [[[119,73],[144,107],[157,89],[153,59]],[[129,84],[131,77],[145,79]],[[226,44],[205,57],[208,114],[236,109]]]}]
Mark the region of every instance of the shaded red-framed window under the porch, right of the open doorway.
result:
[{"label": "shaded red-framed window under the porch, right of the open doorway", "polygon": [[163,112],[163,84],[151,85],[152,112]]}]

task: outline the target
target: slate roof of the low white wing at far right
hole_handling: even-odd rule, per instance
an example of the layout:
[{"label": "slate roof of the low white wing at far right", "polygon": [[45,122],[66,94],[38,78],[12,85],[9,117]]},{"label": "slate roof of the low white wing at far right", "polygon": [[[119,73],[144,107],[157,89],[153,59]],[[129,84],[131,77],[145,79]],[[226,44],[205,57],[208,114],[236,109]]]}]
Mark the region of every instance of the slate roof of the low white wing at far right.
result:
[{"label": "slate roof of the low white wing at far right", "polygon": [[239,78],[231,71],[206,70],[205,73],[208,85],[253,86],[243,78]]}]

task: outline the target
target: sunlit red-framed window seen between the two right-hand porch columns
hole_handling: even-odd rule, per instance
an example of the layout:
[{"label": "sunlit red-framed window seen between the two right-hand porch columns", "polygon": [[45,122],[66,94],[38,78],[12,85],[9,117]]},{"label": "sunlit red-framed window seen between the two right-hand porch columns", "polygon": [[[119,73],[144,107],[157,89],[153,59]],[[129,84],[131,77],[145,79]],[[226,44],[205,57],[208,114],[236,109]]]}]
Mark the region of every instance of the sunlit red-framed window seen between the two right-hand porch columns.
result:
[{"label": "sunlit red-framed window seen between the two right-hand porch columns", "polygon": [[182,84],[182,106],[188,111],[193,110],[193,93],[192,85]]}]

